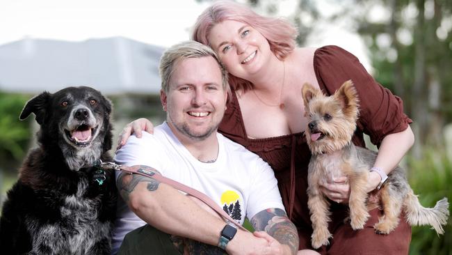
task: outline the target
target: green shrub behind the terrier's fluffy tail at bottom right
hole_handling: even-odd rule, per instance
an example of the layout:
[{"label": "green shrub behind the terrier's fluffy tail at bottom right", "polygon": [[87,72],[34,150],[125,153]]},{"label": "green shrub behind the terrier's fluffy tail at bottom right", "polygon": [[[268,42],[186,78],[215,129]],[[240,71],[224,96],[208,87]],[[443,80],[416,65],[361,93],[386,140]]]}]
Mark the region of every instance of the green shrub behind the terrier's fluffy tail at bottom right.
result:
[{"label": "green shrub behind the terrier's fluffy tail at bottom right", "polygon": [[[452,162],[439,150],[429,150],[422,160],[409,159],[408,180],[419,201],[425,207],[435,206],[436,201],[452,199]],[[449,208],[450,211],[450,208]],[[428,226],[413,226],[410,255],[452,255],[452,224],[449,218],[444,235]]]}]

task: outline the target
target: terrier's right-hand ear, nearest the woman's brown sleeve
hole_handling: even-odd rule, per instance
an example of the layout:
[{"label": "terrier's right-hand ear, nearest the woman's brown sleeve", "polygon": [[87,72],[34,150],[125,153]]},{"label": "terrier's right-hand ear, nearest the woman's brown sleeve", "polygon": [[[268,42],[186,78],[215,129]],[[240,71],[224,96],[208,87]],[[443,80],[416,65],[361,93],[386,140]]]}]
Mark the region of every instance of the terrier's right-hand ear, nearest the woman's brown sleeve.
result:
[{"label": "terrier's right-hand ear, nearest the woman's brown sleeve", "polygon": [[357,118],[359,98],[353,85],[353,82],[349,79],[344,82],[341,87],[334,93],[334,98],[341,102],[342,111],[344,114],[351,118]]}]

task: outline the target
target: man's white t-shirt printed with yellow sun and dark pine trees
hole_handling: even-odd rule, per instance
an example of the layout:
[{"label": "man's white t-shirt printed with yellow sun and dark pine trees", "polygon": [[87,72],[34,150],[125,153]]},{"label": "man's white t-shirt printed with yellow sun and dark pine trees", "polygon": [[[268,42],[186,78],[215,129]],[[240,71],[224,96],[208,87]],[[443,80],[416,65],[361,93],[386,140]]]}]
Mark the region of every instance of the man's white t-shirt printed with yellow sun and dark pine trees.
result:
[{"label": "man's white t-shirt printed with yellow sun and dark pine trees", "polygon": [[[163,123],[154,128],[154,134],[143,132],[140,139],[130,137],[116,153],[115,161],[127,166],[147,165],[167,178],[207,194],[240,224],[245,217],[251,219],[261,210],[284,210],[271,167],[222,134],[217,133],[217,138],[217,160],[200,162],[180,143],[168,124]],[[118,252],[124,235],[145,224],[121,198],[118,199],[113,254]]]}]

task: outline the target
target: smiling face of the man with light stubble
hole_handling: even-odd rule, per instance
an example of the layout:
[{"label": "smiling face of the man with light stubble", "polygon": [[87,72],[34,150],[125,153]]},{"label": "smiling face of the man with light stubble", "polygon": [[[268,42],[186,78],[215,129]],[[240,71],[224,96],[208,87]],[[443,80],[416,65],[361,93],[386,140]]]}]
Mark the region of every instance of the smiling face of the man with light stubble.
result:
[{"label": "smiling face of the man with light stubble", "polygon": [[161,91],[168,124],[179,137],[204,140],[216,132],[225,114],[227,91],[218,63],[212,56],[181,59]]}]

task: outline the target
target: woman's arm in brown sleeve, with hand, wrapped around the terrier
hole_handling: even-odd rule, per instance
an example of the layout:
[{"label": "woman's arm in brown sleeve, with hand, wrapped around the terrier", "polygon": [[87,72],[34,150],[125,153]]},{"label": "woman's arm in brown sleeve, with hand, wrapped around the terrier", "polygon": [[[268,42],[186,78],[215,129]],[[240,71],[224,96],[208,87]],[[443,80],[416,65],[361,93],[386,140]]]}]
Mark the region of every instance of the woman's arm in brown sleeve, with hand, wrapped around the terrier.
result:
[{"label": "woman's arm in brown sleeve, with hand, wrapped around the terrier", "polygon": [[[357,127],[369,134],[372,143],[379,146],[374,166],[386,173],[392,171],[414,141],[408,125],[412,121],[403,113],[403,101],[378,84],[356,56],[340,47],[327,46],[318,49],[314,65],[316,75],[323,81],[328,94],[337,91],[341,81],[353,81],[360,98]],[[367,190],[374,190],[380,180],[381,177],[376,171],[369,172]],[[332,201],[348,201],[350,187],[346,177],[325,183],[323,193]]]}]

